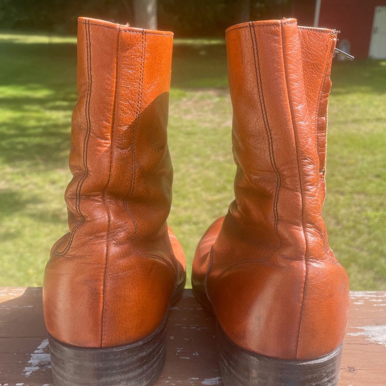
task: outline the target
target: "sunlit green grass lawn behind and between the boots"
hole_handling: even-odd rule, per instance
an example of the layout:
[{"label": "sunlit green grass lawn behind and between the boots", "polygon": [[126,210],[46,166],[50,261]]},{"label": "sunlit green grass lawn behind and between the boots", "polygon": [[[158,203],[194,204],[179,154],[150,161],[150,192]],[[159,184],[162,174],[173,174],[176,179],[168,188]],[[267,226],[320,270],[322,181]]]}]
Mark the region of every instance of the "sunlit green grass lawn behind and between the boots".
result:
[{"label": "sunlit green grass lawn behind and between the boots", "polygon": [[[0,34],[0,285],[42,284],[67,231],[74,38]],[[351,289],[386,290],[386,61],[336,62],[329,108],[330,244]],[[233,199],[225,45],[176,41],[169,147],[175,169],[169,223],[187,255]]]}]

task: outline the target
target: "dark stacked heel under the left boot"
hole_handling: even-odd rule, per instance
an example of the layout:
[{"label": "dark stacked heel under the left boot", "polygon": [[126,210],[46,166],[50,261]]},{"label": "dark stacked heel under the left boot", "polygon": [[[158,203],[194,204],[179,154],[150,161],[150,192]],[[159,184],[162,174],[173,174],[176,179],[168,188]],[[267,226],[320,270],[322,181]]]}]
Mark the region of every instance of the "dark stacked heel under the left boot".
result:
[{"label": "dark stacked heel under the left boot", "polygon": [[50,336],[53,385],[152,385],[165,362],[165,339],[166,323],[139,342],[107,349],[69,346]]}]

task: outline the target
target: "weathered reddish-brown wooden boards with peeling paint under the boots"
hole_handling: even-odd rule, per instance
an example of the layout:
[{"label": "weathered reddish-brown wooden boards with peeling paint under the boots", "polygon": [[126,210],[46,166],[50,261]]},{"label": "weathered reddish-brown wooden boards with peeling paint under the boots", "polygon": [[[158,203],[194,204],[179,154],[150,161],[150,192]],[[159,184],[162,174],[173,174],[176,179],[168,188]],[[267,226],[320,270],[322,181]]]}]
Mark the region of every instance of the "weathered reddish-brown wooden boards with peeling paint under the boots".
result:
[{"label": "weathered reddish-brown wooden boards with peeling paint under the boots", "polygon": [[[41,288],[0,288],[0,386],[52,384]],[[222,385],[213,318],[185,290],[171,308],[156,386]],[[351,292],[341,386],[386,385],[386,292]]]}]

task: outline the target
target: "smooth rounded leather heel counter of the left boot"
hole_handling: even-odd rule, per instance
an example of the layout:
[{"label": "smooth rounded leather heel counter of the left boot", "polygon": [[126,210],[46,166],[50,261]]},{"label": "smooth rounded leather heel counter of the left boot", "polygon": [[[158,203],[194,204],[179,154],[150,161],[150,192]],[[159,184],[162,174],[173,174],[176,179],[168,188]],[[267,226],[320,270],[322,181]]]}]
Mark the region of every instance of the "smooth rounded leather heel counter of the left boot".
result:
[{"label": "smooth rounded leather heel counter of the left boot", "polygon": [[[76,255],[53,256],[46,266],[43,310],[48,332],[79,347],[106,348],[137,342],[162,323],[175,276],[156,258],[97,258],[90,243]],[[100,253],[100,252],[99,252]]]}]

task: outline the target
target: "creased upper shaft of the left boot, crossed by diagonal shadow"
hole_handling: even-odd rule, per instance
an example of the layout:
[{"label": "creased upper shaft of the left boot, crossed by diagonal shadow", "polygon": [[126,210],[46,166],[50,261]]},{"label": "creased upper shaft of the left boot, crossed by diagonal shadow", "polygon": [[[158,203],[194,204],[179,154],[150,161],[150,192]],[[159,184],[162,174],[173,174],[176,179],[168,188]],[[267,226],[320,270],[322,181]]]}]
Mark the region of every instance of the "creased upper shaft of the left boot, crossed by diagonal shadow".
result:
[{"label": "creased upper shaft of the left boot, crossed by diagonal shadow", "polygon": [[[147,233],[156,232],[172,198],[166,126],[173,34],[85,18],[78,27],[73,179],[65,195],[70,231],[88,221],[85,231],[103,237],[108,216],[120,218],[130,207],[136,221],[153,226]],[[117,237],[136,232],[114,224]]]}]

